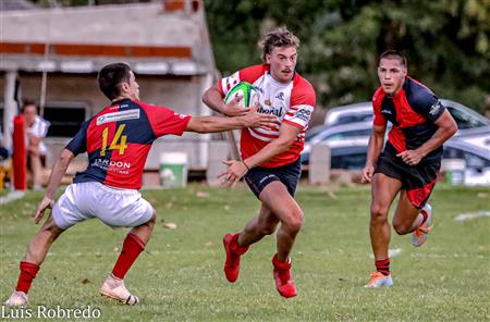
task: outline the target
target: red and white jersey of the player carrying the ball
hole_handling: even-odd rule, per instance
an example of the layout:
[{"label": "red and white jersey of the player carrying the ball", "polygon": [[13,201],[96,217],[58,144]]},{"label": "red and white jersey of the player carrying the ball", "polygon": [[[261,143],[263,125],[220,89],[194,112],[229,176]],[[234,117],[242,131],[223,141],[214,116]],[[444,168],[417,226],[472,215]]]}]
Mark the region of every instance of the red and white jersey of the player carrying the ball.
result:
[{"label": "red and white jersey of the player carrying the ball", "polygon": [[[279,168],[290,164],[299,158],[305,145],[305,132],[316,104],[315,89],[299,74],[294,73],[289,84],[282,84],[272,78],[269,65],[254,65],[237,71],[229,77],[221,79],[221,95],[224,97],[230,89],[240,82],[248,82],[259,92],[260,113],[273,114],[279,117],[280,124],[286,123],[302,129],[291,148],[259,164],[265,168]],[[279,127],[244,128],[240,140],[242,158],[246,159],[270,141],[279,137]]]}]

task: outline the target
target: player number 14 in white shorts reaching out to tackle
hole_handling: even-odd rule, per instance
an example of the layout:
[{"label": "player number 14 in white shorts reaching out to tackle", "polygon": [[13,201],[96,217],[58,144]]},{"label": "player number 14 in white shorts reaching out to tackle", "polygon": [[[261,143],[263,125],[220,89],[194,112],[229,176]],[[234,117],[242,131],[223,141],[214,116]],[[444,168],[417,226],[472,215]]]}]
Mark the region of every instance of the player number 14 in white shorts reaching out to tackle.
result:
[{"label": "player number 14 in white shorts reaching out to tackle", "polygon": [[[105,66],[98,83],[111,104],[82,125],[54,164],[34,220],[39,223],[48,208],[52,208],[51,214],[28,245],[16,288],[5,306],[26,305],[33,278],[52,242],[74,224],[96,216],[109,226],[132,227],[100,294],[126,305],[137,304],[139,299],[126,289],[124,276],[144,250],[156,222],[154,208],[138,191],[151,144],[169,134],[269,126],[278,119],[257,113],[256,108],[236,117],[191,117],[146,104],[139,101],[139,85],[124,63]],[[70,162],[83,152],[88,154],[87,169],[75,175],[73,184],[54,203],[56,190]]]}]

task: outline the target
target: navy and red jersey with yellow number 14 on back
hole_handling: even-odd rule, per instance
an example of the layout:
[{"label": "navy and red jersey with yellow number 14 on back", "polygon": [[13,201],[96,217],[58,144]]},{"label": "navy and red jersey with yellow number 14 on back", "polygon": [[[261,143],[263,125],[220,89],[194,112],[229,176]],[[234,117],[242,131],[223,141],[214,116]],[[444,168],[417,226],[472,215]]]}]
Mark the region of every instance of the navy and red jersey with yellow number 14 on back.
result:
[{"label": "navy and red jersey with yellow number 14 on back", "polygon": [[68,144],[75,156],[88,153],[88,166],[74,183],[139,189],[151,144],[167,134],[182,135],[191,116],[158,106],[123,99],[86,121]]}]

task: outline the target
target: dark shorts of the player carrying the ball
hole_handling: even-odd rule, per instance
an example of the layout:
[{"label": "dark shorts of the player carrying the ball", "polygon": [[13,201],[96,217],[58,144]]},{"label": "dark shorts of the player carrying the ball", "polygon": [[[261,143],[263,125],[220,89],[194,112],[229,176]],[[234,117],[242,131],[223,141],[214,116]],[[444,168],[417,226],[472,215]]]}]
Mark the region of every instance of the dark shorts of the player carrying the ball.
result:
[{"label": "dark shorts of the player carrying the ball", "polygon": [[283,183],[287,193],[294,198],[297,182],[302,175],[302,163],[299,158],[293,163],[280,168],[256,166],[245,174],[245,182],[257,198],[264,188],[274,181]]}]

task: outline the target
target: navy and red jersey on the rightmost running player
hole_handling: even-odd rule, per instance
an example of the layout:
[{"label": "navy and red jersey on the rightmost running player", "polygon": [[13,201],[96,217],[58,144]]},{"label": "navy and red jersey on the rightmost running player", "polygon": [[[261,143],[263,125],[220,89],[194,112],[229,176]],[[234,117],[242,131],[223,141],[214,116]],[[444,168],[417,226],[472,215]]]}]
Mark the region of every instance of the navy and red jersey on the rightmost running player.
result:
[{"label": "navy and red jersey on the rightmost running player", "polygon": [[[428,141],[438,129],[434,122],[445,110],[429,88],[411,77],[406,77],[394,97],[385,95],[382,87],[378,88],[372,97],[372,108],[375,126],[385,126],[387,121],[393,124],[388,143],[397,153],[415,150]],[[421,161],[438,161],[441,157],[442,147],[439,147]]]}]

